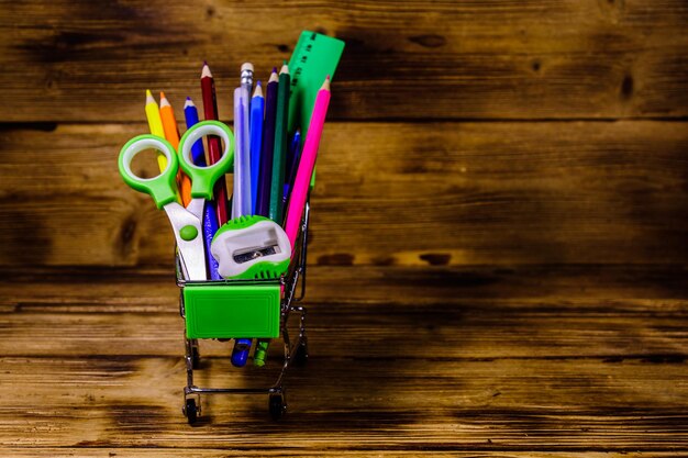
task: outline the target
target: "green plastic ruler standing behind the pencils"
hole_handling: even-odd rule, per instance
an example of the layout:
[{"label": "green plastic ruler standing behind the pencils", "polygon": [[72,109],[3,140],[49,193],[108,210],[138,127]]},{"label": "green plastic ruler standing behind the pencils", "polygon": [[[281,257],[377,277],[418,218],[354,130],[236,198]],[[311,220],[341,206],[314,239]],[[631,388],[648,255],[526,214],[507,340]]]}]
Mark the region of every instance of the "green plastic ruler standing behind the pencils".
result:
[{"label": "green plastic ruler standing behind the pencils", "polygon": [[325,77],[334,77],[344,42],[320,33],[303,31],[289,60],[291,93],[289,97],[289,134],[301,129],[306,139],[315,97]]}]

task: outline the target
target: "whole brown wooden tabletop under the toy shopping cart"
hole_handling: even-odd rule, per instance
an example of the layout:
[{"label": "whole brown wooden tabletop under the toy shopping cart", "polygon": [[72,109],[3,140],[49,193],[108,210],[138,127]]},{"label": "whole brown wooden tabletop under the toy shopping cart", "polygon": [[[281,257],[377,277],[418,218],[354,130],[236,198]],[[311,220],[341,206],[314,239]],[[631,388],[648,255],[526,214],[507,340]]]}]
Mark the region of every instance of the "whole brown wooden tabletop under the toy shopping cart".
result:
[{"label": "whole brown wooden tabletop under the toy shopping cart", "polygon": [[[179,413],[181,321],[165,269],[7,269],[0,447],[3,456],[676,453],[688,443],[684,273],[317,266],[309,298],[330,301],[307,301],[311,358],[290,373],[286,421],[268,420],[264,396],[214,396],[191,428]],[[278,362],[273,354],[265,370],[238,371],[228,344],[201,348],[200,386],[267,384]]]}]

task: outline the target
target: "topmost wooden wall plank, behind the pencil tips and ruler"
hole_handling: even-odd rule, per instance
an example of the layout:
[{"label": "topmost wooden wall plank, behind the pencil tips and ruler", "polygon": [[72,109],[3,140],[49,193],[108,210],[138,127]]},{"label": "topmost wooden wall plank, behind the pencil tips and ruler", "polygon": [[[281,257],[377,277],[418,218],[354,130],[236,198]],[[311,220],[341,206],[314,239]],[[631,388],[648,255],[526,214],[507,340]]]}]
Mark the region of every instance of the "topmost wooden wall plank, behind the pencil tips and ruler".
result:
[{"label": "topmost wooden wall plank, behind the pencil tips and ruler", "polygon": [[681,0],[13,2],[0,121],[142,121],[146,88],[198,97],[204,59],[231,118],[242,62],[265,79],[303,29],[347,43],[332,119],[681,118],[687,20]]}]

